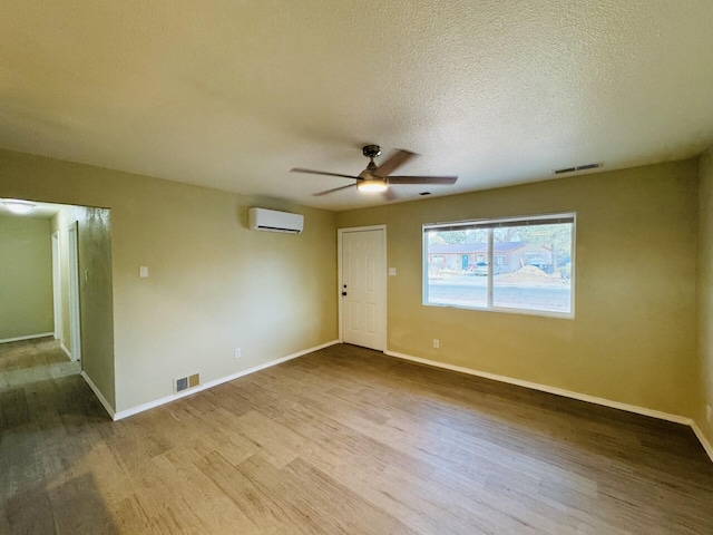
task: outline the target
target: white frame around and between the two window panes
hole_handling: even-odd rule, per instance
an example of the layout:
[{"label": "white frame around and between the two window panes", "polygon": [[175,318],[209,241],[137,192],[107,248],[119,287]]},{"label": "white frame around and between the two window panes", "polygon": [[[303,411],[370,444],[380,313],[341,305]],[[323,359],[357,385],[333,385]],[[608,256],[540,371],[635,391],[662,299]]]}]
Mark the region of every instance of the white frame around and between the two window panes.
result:
[{"label": "white frame around and between the two window panes", "polygon": [[[534,223],[531,223],[534,222]],[[572,249],[569,259],[569,312],[557,312],[553,310],[537,310],[537,309],[522,309],[512,307],[496,307],[492,301],[494,293],[494,270],[492,263],[495,261],[494,251],[494,228],[509,227],[509,226],[527,226],[529,224],[545,225],[557,223],[572,223]],[[428,255],[429,231],[443,230],[472,230],[485,228],[488,230],[488,247],[485,262],[488,263],[488,275],[486,278],[486,305],[485,307],[466,307],[452,303],[431,303],[429,299],[429,281],[428,281]],[[577,236],[577,213],[576,212],[557,212],[551,214],[536,214],[536,215],[522,215],[510,217],[488,217],[477,220],[462,220],[450,221],[439,223],[424,223],[421,225],[421,304],[423,307],[437,307],[437,308],[452,308],[462,310],[477,310],[482,312],[504,312],[508,314],[525,314],[525,315],[539,315],[545,318],[560,318],[560,319],[574,319],[575,318],[575,271],[576,271],[576,236]],[[553,251],[551,254],[555,254]]]}]

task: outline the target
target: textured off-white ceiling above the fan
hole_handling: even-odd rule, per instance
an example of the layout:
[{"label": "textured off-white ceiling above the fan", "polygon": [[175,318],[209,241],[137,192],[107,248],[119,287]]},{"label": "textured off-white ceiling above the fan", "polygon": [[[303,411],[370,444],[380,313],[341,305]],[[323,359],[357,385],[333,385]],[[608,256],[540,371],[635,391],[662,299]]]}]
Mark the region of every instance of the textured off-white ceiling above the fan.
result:
[{"label": "textured off-white ceiling above the fan", "polygon": [[[433,195],[713,144],[713,1],[3,2],[0,147],[331,210],[375,143]],[[422,186],[397,186],[416,198]]]}]

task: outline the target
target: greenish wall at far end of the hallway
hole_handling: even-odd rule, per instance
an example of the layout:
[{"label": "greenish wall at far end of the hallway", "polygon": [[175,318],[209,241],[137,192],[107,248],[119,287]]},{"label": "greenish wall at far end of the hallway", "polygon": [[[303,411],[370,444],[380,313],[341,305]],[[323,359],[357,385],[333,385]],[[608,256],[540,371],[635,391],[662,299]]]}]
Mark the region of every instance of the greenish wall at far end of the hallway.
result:
[{"label": "greenish wall at far end of the hallway", "polygon": [[50,221],[0,215],[0,340],[53,331]]}]

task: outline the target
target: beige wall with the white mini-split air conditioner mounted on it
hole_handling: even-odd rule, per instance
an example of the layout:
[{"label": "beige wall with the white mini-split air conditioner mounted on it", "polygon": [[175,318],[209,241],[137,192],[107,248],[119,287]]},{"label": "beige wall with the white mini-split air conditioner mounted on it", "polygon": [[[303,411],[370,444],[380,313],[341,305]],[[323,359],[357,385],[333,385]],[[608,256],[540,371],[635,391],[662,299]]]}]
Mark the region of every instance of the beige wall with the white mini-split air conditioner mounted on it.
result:
[{"label": "beige wall with the white mini-split air conditioner mounted on it", "polygon": [[[117,410],[336,338],[331,212],[7,150],[0,195],[110,208]],[[253,205],[303,213],[304,233],[247,230]]]}]

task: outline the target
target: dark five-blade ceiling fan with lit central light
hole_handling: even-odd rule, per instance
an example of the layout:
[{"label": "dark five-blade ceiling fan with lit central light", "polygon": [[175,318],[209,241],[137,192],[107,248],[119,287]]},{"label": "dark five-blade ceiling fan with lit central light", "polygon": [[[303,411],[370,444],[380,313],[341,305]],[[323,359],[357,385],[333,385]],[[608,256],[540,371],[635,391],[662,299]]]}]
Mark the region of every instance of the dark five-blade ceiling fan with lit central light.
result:
[{"label": "dark five-blade ceiling fan with lit central light", "polygon": [[326,176],[340,176],[342,178],[352,178],[356,182],[348,186],[340,186],[333,189],[326,189],[325,192],[314,193],[314,196],[326,195],[329,193],[339,192],[341,189],[349,189],[350,187],[356,187],[360,192],[382,192],[383,195],[391,200],[395,198],[393,193],[389,189],[389,186],[399,184],[442,184],[452,185],[458,179],[457,176],[391,176],[391,173],[397,171],[409,159],[418,156],[416,153],[409,150],[395,150],[383,164],[377,166],[374,158],[381,155],[381,147],[379,145],[367,145],[362,148],[364,156],[369,158],[369,165],[358,176],[342,175],[340,173],[328,173],[325,171],[303,169],[301,167],[294,167],[290,169],[292,173],[309,173],[312,175],[326,175]]}]

